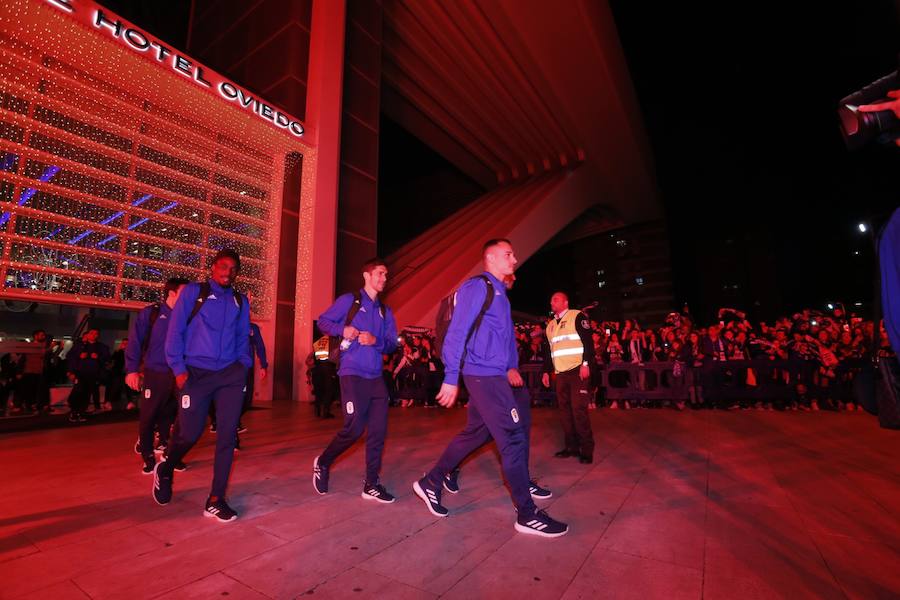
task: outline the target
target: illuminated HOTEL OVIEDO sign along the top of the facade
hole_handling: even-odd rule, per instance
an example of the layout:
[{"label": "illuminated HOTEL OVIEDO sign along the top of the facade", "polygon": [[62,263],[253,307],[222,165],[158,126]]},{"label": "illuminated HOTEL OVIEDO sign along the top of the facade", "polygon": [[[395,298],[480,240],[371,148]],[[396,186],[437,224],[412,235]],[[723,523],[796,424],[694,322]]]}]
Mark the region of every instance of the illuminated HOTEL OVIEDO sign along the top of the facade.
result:
[{"label": "illuminated HOTEL OVIEDO sign along the top of the facade", "polygon": [[303,124],[288,114],[254,97],[237,84],[218,73],[207,71],[202,65],[187,56],[169,48],[159,40],[134,27],[128,21],[90,2],[78,0],[46,0],[52,6],[69,13],[94,29],[104,31],[135,52],[146,53],[161,65],[168,65],[173,71],[190,79],[194,84],[216,90],[229,102],[249,110],[261,119],[280,129],[290,131],[297,137],[303,136]]}]

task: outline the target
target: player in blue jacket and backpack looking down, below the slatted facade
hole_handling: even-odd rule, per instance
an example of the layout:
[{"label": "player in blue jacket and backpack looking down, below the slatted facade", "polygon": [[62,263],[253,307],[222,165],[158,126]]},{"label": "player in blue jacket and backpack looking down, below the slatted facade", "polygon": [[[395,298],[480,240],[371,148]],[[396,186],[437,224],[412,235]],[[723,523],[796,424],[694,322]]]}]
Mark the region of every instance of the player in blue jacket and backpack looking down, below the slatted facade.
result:
[{"label": "player in blue jacket and backpack looking down, below the slatted facade", "polygon": [[165,351],[178,389],[178,423],[166,459],[153,471],[153,499],[168,504],[175,465],[200,439],[214,403],[219,435],[204,516],[219,521],[237,518],[225,502],[225,489],[251,366],[250,303],[232,287],[240,269],[237,252],[220,250],[209,279],[186,285],[172,309]]}]

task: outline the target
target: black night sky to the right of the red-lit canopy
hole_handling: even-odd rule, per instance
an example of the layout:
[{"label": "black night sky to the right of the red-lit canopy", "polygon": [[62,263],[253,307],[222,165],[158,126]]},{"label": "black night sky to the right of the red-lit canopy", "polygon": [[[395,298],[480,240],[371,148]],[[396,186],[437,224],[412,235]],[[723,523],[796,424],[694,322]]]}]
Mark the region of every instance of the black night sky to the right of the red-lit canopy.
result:
[{"label": "black night sky to the right of the red-lit canopy", "polygon": [[676,300],[715,308],[697,290],[731,240],[748,270],[770,275],[737,299],[762,297],[761,316],[868,304],[872,246],[855,225],[897,206],[900,149],[848,152],[835,108],[897,69],[893,4],[611,6],[656,161]]}]

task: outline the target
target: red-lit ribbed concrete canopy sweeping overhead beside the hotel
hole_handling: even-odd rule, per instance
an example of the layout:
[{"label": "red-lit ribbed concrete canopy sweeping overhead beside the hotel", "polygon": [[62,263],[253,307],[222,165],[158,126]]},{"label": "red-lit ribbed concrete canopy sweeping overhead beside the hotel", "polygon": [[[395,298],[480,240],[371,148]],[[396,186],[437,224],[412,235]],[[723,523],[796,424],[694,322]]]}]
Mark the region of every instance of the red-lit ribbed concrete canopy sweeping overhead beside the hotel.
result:
[{"label": "red-lit ribbed concrete canopy sweeping overhead beside the hotel", "polygon": [[[600,230],[661,216],[649,144],[606,2],[386,0],[384,15],[385,114],[491,190],[486,203],[497,205],[498,190],[508,188],[504,197],[530,205],[512,222],[491,218],[489,209],[472,211],[478,218],[465,229],[475,237],[510,237],[523,262],[592,207],[591,214],[605,215]],[[530,183],[566,172],[564,185]],[[440,224],[410,246],[448,227]],[[455,238],[443,237],[450,238],[443,260],[437,252],[412,264],[409,248],[392,257],[406,280],[413,271],[442,275],[427,292],[403,281],[392,286],[401,324],[427,324],[440,298],[480,270],[479,244],[455,247]],[[467,268],[448,269],[450,263]]]}]

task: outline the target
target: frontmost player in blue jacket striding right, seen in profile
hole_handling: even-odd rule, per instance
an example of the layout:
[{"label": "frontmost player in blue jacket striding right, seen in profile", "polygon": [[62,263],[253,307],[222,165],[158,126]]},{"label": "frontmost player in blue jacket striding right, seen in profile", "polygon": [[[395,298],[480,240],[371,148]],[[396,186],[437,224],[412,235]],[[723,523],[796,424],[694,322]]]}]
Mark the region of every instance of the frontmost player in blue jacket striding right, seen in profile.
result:
[{"label": "frontmost player in blue jacket striding right, seen in profile", "polygon": [[[511,386],[521,386],[518,353],[505,277],[516,257],[509,240],[488,241],[482,251],[485,272],[464,283],[443,344],[444,383],[438,403],[456,402],[459,376],[469,391],[466,427],[450,442],[430,472],[413,484],[431,514],[446,517],[441,504],[444,478],[484,442],[490,433],[500,451],[503,474],[517,511],[516,531],[543,537],[565,535],[569,527],[538,510],[529,490],[528,445]],[[486,309],[485,309],[486,307]]]}]

